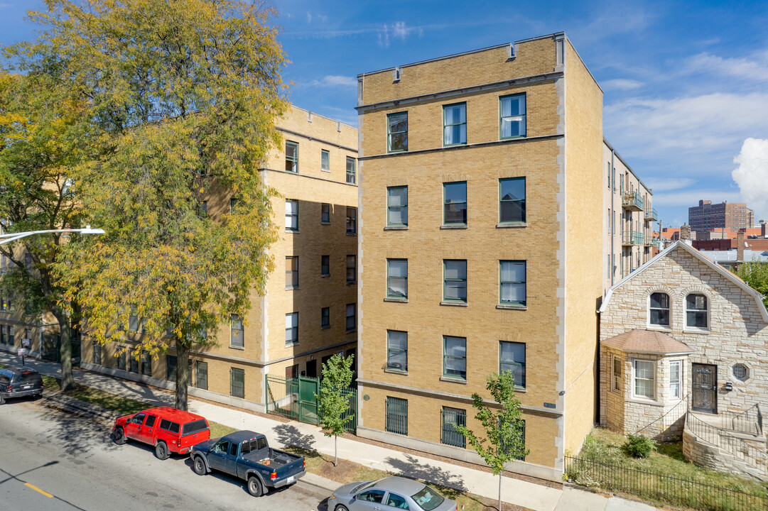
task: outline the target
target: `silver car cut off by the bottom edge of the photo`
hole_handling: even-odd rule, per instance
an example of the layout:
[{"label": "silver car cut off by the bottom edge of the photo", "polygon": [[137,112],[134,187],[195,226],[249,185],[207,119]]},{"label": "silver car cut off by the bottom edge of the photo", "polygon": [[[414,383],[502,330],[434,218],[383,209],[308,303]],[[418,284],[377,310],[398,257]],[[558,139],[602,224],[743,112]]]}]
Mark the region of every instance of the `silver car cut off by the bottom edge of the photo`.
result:
[{"label": "silver car cut off by the bottom edge of the photo", "polygon": [[385,477],[341,486],[328,498],[333,511],[458,511],[451,499],[424,483],[405,477]]}]

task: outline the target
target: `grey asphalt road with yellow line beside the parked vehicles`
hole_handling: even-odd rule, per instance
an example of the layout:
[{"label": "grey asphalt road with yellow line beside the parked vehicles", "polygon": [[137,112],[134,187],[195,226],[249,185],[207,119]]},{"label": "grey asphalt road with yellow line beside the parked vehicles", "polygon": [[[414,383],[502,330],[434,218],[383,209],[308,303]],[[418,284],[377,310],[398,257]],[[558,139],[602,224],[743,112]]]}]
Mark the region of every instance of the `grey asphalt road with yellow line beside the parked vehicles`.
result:
[{"label": "grey asphalt road with yellow line beside the parked vehicles", "polygon": [[45,400],[0,405],[0,510],[326,511],[327,495],[313,486],[298,483],[255,498],[239,480],[198,476],[187,457],[161,461],[148,446],[114,445],[110,432],[48,408]]}]

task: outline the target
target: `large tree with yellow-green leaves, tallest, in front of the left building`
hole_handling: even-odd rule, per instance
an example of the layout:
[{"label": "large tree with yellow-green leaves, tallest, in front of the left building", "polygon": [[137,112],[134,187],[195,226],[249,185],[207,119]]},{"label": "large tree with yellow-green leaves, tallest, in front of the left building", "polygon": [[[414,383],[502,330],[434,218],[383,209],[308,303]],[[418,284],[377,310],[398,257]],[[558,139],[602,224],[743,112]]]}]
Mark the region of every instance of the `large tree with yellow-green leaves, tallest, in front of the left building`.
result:
[{"label": "large tree with yellow-green leaves, tallest, in front of the left building", "polygon": [[[135,316],[138,350],[177,357],[186,409],[190,350],[243,318],[273,268],[273,192],[258,173],[286,108],[273,12],[226,0],[47,4],[31,13],[41,38],[17,55],[22,71],[54,55],[59,79],[87,102],[88,157],[72,177],[88,220],[107,232],[65,247],[65,302],[102,344],[124,338]],[[209,198],[226,207],[208,215]]]}]

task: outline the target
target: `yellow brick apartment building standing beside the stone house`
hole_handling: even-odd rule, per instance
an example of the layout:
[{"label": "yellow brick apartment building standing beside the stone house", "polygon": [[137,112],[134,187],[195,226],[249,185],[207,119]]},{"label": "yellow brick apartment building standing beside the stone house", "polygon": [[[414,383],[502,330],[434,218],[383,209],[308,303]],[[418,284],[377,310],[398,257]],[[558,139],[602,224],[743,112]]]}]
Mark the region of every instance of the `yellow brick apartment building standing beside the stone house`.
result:
[{"label": "yellow brick apartment building standing beside the stone house", "polygon": [[479,461],[453,425],[478,430],[471,395],[508,370],[530,449],[511,470],[560,480],[595,421],[601,88],[558,33],[359,74],[358,91],[357,434]]}]

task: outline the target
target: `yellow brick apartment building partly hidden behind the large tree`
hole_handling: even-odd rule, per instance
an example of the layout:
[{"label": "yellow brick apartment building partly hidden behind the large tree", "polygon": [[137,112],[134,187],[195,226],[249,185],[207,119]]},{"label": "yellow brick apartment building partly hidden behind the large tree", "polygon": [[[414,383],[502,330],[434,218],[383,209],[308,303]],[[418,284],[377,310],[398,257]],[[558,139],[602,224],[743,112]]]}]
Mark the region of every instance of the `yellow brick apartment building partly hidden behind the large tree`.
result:
[{"label": "yellow brick apartment building partly hidden behind the large tree", "polygon": [[[264,411],[265,377],[320,376],[333,354],[353,354],[357,335],[357,129],[291,107],[277,121],[283,147],[259,170],[272,199],[280,239],[270,246],[275,269],[266,295],[254,293],[246,318],[219,332],[218,346],[190,356],[192,396]],[[237,198],[220,190],[204,209],[214,219]],[[83,346],[81,365],[172,388],[175,350],[153,361],[131,356],[141,335],[131,316],[124,339],[99,348]],[[116,351],[127,348],[117,358]]]}]

